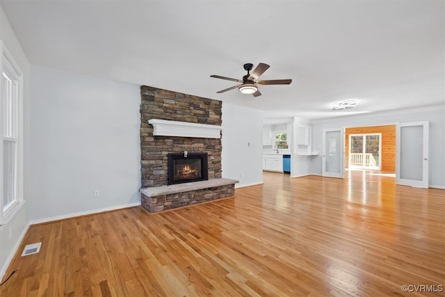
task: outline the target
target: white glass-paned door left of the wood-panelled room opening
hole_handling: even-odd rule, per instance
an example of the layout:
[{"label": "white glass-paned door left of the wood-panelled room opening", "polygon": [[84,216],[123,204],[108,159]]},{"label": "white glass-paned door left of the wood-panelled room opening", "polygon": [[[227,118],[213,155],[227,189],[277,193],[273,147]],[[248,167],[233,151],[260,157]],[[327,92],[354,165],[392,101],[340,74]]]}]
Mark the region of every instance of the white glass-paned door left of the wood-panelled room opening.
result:
[{"label": "white glass-paned door left of the wood-panelled room opening", "polygon": [[343,129],[323,129],[323,177],[344,178],[344,133]]}]

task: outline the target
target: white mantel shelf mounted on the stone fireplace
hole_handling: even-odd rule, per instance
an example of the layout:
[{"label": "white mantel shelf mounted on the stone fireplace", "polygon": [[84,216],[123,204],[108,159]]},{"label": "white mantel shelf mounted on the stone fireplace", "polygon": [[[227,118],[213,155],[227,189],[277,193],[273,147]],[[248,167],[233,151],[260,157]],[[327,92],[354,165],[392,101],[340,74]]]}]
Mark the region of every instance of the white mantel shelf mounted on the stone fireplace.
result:
[{"label": "white mantel shelf mounted on the stone fireplace", "polygon": [[178,122],[175,120],[148,120],[153,125],[153,136],[178,136],[196,138],[220,138],[221,129],[218,125],[197,124],[194,122]]}]

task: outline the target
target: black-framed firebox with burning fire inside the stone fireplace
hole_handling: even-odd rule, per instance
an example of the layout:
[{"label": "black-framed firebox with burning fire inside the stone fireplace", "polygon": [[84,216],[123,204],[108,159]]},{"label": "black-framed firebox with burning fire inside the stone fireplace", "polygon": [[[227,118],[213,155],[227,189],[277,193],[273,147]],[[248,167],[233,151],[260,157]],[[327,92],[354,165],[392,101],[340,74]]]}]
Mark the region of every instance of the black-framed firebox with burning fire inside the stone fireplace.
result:
[{"label": "black-framed firebox with burning fire inside the stone fireplace", "polygon": [[168,154],[168,184],[198,182],[209,179],[207,153]]}]

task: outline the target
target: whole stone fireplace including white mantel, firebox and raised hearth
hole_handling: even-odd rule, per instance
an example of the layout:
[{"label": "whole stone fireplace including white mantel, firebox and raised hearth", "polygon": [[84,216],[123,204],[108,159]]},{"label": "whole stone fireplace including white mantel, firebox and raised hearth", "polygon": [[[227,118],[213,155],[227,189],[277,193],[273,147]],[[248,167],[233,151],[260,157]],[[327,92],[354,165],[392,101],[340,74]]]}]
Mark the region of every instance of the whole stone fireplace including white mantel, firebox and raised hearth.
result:
[{"label": "whole stone fireplace including white mantel, firebox and raised hearth", "polygon": [[[222,102],[148,86],[140,87],[140,95],[142,206],[154,212],[233,196],[238,181],[222,178],[220,129],[216,136],[206,136],[207,132],[182,136],[155,129],[156,122],[181,123],[173,132],[220,127]],[[184,158],[184,152],[187,158],[200,155],[201,163]],[[179,156],[182,161],[175,159]]]}]

